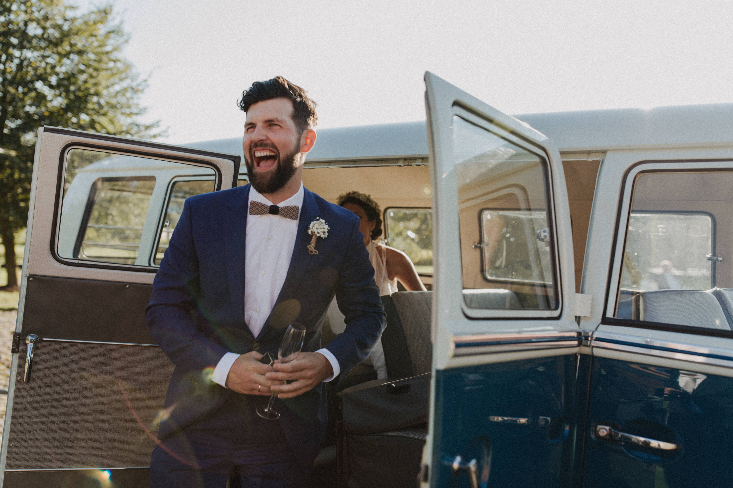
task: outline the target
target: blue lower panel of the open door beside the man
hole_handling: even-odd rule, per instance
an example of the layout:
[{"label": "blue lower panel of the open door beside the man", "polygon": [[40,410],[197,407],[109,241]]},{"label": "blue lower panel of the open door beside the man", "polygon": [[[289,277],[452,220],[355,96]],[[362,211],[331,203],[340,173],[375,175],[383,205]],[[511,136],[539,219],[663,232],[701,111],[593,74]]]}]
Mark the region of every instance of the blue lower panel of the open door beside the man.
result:
[{"label": "blue lower panel of the open door beside the man", "polygon": [[[567,484],[570,450],[564,446],[575,424],[575,391],[567,386],[574,383],[575,361],[570,354],[437,372],[436,415],[444,424],[435,438],[441,446],[435,486],[452,486],[454,456],[474,459],[481,453],[465,449],[476,443],[488,459],[481,463],[480,486]],[[517,468],[506,469],[512,465]]]}]

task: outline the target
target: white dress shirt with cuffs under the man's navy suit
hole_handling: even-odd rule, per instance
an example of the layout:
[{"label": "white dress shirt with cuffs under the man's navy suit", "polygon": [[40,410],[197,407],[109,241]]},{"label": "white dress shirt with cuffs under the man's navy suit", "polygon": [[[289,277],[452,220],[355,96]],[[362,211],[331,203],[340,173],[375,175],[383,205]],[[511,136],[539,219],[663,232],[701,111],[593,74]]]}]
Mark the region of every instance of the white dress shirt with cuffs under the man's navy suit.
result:
[{"label": "white dress shirt with cuffs under the man's navy suit", "polygon": [[[262,196],[254,187],[249,189],[249,202],[256,201],[267,206],[273,205],[270,200]],[[297,205],[303,209],[303,184],[292,197],[278,204],[279,207]],[[280,215],[248,215],[245,238],[244,263],[244,321],[254,337],[257,337],[262,326],[270,316],[270,312],[277,301],[282,285],[290,269],[292,249],[295,247],[295,237],[298,233],[298,222],[301,221],[301,211],[298,219],[287,219]],[[334,368],[334,375],[325,381],[331,381],[341,372],[339,361],[328,349],[319,349]],[[226,377],[229,369],[240,355],[226,353],[219,360],[211,377],[213,381],[226,387]]]}]

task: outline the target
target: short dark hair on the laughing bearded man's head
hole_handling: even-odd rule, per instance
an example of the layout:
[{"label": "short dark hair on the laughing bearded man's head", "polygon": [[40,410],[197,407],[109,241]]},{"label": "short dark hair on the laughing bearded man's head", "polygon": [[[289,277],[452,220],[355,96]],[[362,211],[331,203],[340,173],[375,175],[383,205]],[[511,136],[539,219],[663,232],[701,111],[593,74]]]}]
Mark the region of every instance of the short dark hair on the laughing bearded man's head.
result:
[{"label": "short dark hair on the laughing bearded man's head", "polygon": [[257,102],[273,98],[287,98],[292,102],[292,121],[302,134],[306,129],[314,129],[318,122],[317,104],[308,97],[307,93],[300,86],[290,83],[281,76],[276,76],[271,80],[252,83],[252,86],[242,92],[242,100],[237,102],[237,105],[246,112]]}]

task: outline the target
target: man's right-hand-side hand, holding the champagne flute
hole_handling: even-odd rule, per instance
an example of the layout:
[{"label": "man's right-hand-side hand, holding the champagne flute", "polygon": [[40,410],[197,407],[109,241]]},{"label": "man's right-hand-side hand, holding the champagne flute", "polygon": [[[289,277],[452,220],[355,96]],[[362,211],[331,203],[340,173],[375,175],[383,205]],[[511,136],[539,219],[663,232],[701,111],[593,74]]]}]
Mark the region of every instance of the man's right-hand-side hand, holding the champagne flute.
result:
[{"label": "man's right-hand-side hand, holding the champagne flute", "polygon": [[[298,397],[334,374],[331,363],[321,353],[300,353],[295,361],[276,362],[273,367],[275,372],[268,372],[265,378],[272,383],[270,390],[278,394],[278,398]],[[285,385],[285,380],[295,381]]]}]

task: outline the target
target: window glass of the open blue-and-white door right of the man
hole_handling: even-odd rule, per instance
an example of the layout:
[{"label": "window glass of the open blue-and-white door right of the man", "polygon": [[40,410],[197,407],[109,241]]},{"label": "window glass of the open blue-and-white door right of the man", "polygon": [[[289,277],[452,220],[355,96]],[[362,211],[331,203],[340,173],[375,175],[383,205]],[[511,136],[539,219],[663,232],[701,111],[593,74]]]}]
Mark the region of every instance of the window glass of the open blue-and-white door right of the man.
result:
[{"label": "window glass of the open blue-and-white door right of the man", "polygon": [[463,299],[471,308],[556,309],[548,163],[454,116]]}]

